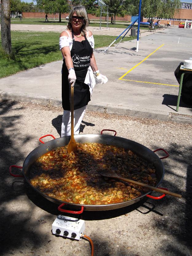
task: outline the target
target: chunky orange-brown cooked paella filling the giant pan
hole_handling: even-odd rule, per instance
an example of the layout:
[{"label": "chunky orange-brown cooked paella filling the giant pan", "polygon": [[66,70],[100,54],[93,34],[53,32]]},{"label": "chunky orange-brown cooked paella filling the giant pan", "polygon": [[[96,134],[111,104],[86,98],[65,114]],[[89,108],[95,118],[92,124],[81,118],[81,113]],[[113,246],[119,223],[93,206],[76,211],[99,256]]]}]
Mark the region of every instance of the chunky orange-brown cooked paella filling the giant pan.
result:
[{"label": "chunky orange-brown cooked paella filling the giant pan", "polygon": [[81,205],[104,205],[132,200],[146,188],[100,175],[107,169],[127,179],[156,184],[153,163],[131,150],[99,143],[77,143],[76,153],[67,146],[39,157],[31,166],[30,182],[52,198]]}]

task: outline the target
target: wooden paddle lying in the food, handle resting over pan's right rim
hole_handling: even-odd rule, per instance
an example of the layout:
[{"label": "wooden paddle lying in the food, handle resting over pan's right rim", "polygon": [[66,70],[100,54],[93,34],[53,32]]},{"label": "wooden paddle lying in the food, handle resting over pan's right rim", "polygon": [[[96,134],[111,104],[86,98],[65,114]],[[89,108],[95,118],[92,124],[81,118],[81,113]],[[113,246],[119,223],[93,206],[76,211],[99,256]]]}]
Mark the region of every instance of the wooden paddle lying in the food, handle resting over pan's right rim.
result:
[{"label": "wooden paddle lying in the food, handle resting over pan's right rim", "polygon": [[157,192],[160,192],[160,193],[163,193],[163,194],[166,194],[166,195],[172,195],[172,196],[175,196],[175,197],[179,197],[181,198],[182,196],[179,195],[179,194],[176,194],[176,193],[173,193],[173,192],[170,192],[170,191],[167,191],[167,190],[164,190],[164,189],[161,189],[161,188],[158,188],[158,187],[152,187],[150,185],[147,185],[145,183],[141,183],[141,182],[138,182],[138,181],[135,181],[135,180],[132,180],[132,179],[125,179],[119,175],[117,175],[114,171],[112,170],[102,170],[100,172],[100,174],[104,177],[108,177],[108,178],[114,178],[114,179],[121,179],[125,182],[128,182],[128,183],[132,183],[132,184],[135,184],[139,187],[145,187],[145,188],[148,188],[149,190],[154,190],[154,191],[157,191]]}]

